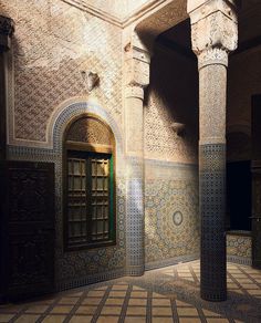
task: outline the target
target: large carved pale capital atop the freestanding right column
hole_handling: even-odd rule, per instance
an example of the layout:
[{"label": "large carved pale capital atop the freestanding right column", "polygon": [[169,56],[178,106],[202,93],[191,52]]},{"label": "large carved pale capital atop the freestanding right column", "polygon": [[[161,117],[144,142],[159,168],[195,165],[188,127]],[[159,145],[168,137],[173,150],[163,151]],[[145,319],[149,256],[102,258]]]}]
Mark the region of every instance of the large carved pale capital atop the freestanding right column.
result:
[{"label": "large carved pale capital atop the freestanding right column", "polygon": [[228,64],[238,45],[238,20],[232,0],[189,0],[192,50],[207,64]]}]

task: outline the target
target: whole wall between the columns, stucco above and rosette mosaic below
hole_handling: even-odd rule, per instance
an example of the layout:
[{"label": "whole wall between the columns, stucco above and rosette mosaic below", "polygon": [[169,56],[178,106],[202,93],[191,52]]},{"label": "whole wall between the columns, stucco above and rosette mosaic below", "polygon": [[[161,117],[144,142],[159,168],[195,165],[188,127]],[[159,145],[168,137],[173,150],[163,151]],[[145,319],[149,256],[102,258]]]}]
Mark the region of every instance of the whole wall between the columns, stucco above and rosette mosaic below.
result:
[{"label": "whole wall between the columns, stucco above and rosette mosaic below", "polygon": [[147,269],[199,253],[197,77],[195,61],[155,49],[145,105]]}]

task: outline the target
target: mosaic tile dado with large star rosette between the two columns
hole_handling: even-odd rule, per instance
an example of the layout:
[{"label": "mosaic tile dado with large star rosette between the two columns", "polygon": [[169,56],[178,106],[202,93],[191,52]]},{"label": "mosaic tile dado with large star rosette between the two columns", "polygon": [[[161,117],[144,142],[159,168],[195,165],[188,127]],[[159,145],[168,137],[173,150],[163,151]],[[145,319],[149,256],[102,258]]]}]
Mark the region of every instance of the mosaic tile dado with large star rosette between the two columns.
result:
[{"label": "mosaic tile dado with large star rosette between the two columns", "polygon": [[[175,213],[179,212],[178,221]],[[194,179],[148,179],[145,183],[145,262],[199,253],[198,187]]]}]

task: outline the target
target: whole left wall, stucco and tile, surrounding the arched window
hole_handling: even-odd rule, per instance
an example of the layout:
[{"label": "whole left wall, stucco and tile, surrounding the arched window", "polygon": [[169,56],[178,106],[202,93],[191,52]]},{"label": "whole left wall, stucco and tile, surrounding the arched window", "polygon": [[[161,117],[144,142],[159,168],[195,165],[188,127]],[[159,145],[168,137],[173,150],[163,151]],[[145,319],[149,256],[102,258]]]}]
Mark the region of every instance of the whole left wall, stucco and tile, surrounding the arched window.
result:
[{"label": "whole left wall, stucco and tile, surrounding the arched window", "polygon": [[[122,29],[60,0],[11,0],[1,2],[0,9],[15,22],[8,58],[9,159],[55,164],[56,285],[66,289],[123,275]],[[87,93],[83,71],[100,76],[100,86],[92,93]],[[53,125],[54,147],[45,147],[48,124],[61,104],[63,112]],[[84,112],[98,114],[113,131],[118,129],[114,133],[117,244],[64,252],[62,135],[70,118]]]}]

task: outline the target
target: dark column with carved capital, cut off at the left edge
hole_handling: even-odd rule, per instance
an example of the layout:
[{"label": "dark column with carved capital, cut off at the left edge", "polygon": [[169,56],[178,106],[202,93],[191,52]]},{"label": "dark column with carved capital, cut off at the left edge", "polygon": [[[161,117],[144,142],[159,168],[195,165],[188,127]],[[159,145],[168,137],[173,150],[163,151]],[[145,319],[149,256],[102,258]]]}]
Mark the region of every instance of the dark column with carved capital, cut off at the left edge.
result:
[{"label": "dark column with carved capital, cut off at the left edge", "polygon": [[12,19],[0,15],[0,160],[7,156],[6,52],[11,48]]}]

